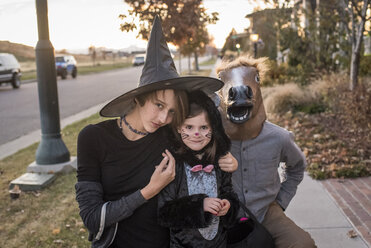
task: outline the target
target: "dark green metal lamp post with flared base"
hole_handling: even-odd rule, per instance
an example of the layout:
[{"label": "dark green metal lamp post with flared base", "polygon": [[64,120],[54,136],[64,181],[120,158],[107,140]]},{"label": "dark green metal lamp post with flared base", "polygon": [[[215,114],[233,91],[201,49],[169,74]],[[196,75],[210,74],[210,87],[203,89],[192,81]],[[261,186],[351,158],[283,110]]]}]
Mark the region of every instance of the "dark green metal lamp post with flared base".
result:
[{"label": "dark green metal lamp post with flared base", "polygon": [[36,13],[39,41],[35,52],[41,123],[36,163],[50,165],[68,162],[70,153],[60,133],[57,77],[54,48],[49,40],[47,0],[36,0]]}]

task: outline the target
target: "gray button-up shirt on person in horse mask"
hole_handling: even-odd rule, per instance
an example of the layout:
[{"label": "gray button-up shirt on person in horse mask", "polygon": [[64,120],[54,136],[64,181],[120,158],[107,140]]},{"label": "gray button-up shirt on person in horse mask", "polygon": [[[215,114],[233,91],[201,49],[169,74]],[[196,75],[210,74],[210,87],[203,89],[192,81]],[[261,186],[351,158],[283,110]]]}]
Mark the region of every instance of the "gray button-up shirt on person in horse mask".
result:
[{"label": "gray button-up shirt on person in horse mask", "polygon": [[[303,180],[305,156],[295,144],[293,134],[265,121],[260,134],[251,140],[233,140],[231,153],[238,160],[232,174],[239,199],[262,222],[273,201],[286,209]],[[278,172],[280,163],[284,181]]]}]

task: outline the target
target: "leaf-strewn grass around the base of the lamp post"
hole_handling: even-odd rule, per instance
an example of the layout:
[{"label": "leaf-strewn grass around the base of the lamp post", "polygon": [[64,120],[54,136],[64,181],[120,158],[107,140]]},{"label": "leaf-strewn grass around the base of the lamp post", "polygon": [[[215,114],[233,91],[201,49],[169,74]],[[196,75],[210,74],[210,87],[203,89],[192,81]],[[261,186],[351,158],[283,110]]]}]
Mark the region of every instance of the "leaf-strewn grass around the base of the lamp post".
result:
[{"label": "leaf-strewn grass around the base of the lamp post", "polygon": [[[102,120],[96,114],[62,130],[72,156],[76,156],[79,131]],[[33,144],[0,161],[0,247],[90,247],[75,201],[76,172],[59,175],[40,192],[22,192],[19,199],[10,199],[10,181],[26,172],[35,160],[37,146]]]}]

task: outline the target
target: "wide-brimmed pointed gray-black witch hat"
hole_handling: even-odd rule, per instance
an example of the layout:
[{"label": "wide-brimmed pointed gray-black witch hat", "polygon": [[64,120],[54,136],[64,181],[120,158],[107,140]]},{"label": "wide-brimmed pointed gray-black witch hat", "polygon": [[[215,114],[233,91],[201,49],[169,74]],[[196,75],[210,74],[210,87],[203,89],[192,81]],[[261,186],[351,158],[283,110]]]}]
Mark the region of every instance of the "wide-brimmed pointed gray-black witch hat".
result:
[{"label": "wide-brimmed pointed gray-black witch hat", "polygon": [[100,115],[117,117],[128,114],[135,106],[135,97],[155,90],[202,90],[211,94],[223,85],[224,83],[216,78],[179,76],[162,33],[160,18],[156,16],[147,45],[146,62],[143,66],[139,85],[105,105],[101,109]]}]

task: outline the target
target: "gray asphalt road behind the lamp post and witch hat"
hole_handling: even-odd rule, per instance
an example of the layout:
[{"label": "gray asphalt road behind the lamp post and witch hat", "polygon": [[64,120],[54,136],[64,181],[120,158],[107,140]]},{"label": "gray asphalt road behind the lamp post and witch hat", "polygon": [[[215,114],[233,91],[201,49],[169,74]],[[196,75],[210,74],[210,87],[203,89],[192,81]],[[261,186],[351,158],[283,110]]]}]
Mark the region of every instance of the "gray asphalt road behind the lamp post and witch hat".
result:
[{"label": "gray asphalt road behind the lamp post and witch hat", "polygon": [[[205,59],[202,57],[199,61]],[[175,60],[174,63],[178,68],[179,61]],[[182,58],[181,67],[182,71],[188,71],[188,58]],[[141,72],[142,66],[78,75],[75,79],[58,78],[60,119],[112,100],[135,88]],[[0,146],[40,129],[37,83],[22,84],[17,90],[13,90],[10,85],[0,87],[0,116]]]}]

